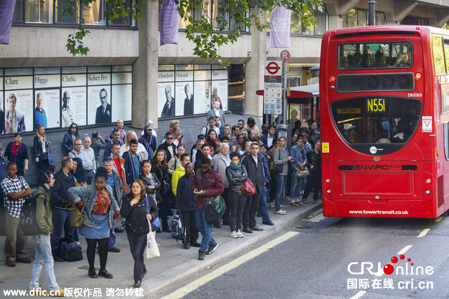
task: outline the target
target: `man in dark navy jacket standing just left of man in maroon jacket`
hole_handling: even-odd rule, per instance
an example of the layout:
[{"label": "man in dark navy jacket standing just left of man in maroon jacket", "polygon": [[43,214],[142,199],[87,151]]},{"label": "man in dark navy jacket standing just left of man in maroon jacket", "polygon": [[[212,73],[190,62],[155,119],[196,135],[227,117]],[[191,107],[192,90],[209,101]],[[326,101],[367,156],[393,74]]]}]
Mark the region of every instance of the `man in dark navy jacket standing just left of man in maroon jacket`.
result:
[{"label": "man in dark navy jacket standing just left of man in maroon jacket", "polygon": [[194,179],[194,163],[189,162],[185,165],[185,175],[177,181],[176,188],[176,209],[177,213],[182,213],[185,225],[185,243],[184,249],[190,246],[199,247],[198,228],[196,228],[195,210],[196,196],[192,191],[192,181]]}]

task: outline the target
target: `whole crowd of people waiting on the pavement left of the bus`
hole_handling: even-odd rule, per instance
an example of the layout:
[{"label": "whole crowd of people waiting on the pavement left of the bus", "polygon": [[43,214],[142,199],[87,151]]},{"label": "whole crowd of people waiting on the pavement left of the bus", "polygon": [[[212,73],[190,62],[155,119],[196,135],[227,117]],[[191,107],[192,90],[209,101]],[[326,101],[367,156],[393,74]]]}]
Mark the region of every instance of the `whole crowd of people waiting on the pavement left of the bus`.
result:
[{"label": "whole crowd of people waiting on the pavement left of the bus", "polygon": [[[57,250],[63,232],[74,242],[79,242],[79,235],[86,238],[88,276],[110,279],[113,275],[106,270],[107,254],[120,252],[115,246],[116,233],[126,231],[135,261],[134,286],[139,287],[147,273],[143,255],[147,233],[152,229],[149,221],[158,216],[161,228],[157,232],[170,232],[168,217],[181,214],[186,228],[183,248],[199,247],[199,260],[203,260],[218,246],[212,237],[213,226],[229,225],[230,236],[242,238],[243,233],[263,230],[257,225],[257,217],[262,218],[263,225],[274,225],[269,208],[285,215],[281,204],[307,203],[311,190],[317,202],[321,191],[321,144],[313,120],[309,120],[308,127],[298,120],[291,140],[276,139],[274,125],[264,124],[259,129],[251,117],[246,123],[241,119],[236,125],[222,124],[220,110],[215,107],[208,113],[207,125],[201,128],[190,151],[182,144],[179,120],[170,122],[159,145],[151,121],[138,137],[134,131],[125,132],[123,120],[119,120],[105,139],[96,131],[81,139],[73,123],[62,140],[65,157],[57,172],[48,151],[45,127],[39,126],[33,144],[39,167],[38,188],[33,194],[23,178],[29,160],[27,146],[21,141],[22,135],[16,133],[15,141],[6,146],[4,158],[0,159],[6,208],[6,265],[32,263],[26,257],[27,237],[19,224],[22,204],[29,196],[36,198],[41,231],[41,235],[33,236],[35,258],[29,287],[39,287],[39,273],[44,267],[50,288],[62,294],[55,280],[53,260],[63,260]],[[295,169],[305,167],[309,176],[297,178]],[[241,190],[248,179],[255,186],[251,196]],[[211,225],[206,221],[204,207],[218,195],[225,200],[226,210],[222,222]],[[288,196],[290,201],[282,202]],[[74,203],[85,214],[79,230],[70,225]],[[98,273],[95,251],[100,258]]]}]

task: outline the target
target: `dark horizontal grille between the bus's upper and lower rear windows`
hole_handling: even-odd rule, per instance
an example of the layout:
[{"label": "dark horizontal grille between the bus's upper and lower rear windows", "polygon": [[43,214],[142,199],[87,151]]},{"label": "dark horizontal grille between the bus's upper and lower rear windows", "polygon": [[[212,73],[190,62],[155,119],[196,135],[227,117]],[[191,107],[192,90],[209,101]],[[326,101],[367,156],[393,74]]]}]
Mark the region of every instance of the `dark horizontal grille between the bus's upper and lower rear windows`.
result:
[{"label": "dark horizontal grille between the bus's upper and lower rear windows", "polygon": [[410,91],[414,89],[415,81],[412,73],[337,76],[338,92]]}]

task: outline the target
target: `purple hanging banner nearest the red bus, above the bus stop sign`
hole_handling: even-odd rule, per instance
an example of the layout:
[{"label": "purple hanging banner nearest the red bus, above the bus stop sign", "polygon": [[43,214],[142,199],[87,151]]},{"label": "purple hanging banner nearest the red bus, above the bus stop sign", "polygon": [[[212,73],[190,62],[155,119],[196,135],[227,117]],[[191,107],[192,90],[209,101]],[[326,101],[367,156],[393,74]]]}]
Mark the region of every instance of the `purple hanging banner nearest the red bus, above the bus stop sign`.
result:
[{"label": "purple hanging banner nearest the red bus, above the bus stop sign", "polygon": [[270,15],[269,48],[290,48],[290,13],[282,6],[274,8]]}]

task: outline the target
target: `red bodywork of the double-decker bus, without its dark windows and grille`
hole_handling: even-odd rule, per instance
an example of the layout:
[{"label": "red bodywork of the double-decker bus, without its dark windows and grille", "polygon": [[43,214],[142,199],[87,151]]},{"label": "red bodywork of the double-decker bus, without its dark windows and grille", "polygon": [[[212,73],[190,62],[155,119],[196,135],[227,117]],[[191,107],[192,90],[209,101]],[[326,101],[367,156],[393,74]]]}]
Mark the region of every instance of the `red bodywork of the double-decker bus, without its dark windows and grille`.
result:
[{"label": "red bodywork of the double-decker bus, without its dark windows and grille", "polygon": [[[324,216],[436,218],[449,209],[449,161],[445,158],[443,132],[443,123],[449,121],[449,113],[441,114],[441,103],[438,102],[441,100],[438,86],[449,83],[449,75],[434,75],[431,48],[434,34],[448,36],[449,40],[449,31],[443,29],[401,25],[335,29],[324,34],[320,65]],[[410,41],[413,44],[412,67],[354,71],[337,68],[339,44],[382,41]],[[339,74],[392,72],[420,73],[422,76],[415,76],[415,88],[408,92],[339,93],[336,81],[331,80]],[[420,99],[422,116],[431,116],[432,132],[423,132],[420,120],[410,141],[394,153],[366,155],[355,151],[337,132],[330,103],[361,95]],[[324,151],[325,144],[327,152]],[[350,165],[352,170],[340,170],[342,165]],[[403,170],[408,165],[415,165],[415,169]],[[431,182],[427,183],[427,179]]]}]

